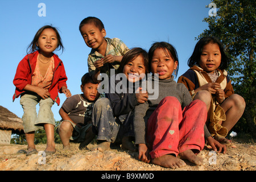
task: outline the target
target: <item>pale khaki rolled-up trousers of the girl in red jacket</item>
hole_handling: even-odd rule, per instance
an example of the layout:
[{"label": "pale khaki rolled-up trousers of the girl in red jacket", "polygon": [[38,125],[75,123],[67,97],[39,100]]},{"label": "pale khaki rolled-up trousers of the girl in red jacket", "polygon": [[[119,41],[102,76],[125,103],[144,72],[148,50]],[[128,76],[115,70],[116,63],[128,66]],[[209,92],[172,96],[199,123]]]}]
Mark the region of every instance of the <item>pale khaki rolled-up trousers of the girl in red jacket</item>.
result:
[{"label": "pale khaki rolled-up trousers of the girl in red jacket", "polygon": [[[36,105],[39,104],[38,114]],[[51,98],[42,99],[38,94],[23,94],[20,97],[24,114],[22,116],[24,133],[43,129],[43,125],[48,123],[55,126],[55,119],[51,110],[54,104]]]}]

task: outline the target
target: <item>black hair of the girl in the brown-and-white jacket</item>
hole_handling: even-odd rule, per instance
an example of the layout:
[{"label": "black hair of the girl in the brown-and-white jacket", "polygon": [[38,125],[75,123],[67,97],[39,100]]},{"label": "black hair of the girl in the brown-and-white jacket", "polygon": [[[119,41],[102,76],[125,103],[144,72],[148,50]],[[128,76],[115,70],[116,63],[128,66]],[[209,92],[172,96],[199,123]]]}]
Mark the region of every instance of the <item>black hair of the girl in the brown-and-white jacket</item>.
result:
[{"label": "black hair of the girl in the brown-and-white jacket", "polygon": [[191,67],[193,67],[193,65],[199,65],[200,56],[203,51],[203,48],[205,45],[207,45],[209,43],[218,44],[218,47],[220,48],[221,64],[220,64],[220,67],[218,67],[218,68],[221,70],[228,68],[230,59],[226,55],[226,53],[224,51],[224,47],[223,47],[222,43],[220,42],[220,40],[214,36],[207,36],[207,37],[201,38],[196,43],[195,49],[194,49],[191,57],[189,57],[189,59],[188,59],[188,66],[191,68]]}]

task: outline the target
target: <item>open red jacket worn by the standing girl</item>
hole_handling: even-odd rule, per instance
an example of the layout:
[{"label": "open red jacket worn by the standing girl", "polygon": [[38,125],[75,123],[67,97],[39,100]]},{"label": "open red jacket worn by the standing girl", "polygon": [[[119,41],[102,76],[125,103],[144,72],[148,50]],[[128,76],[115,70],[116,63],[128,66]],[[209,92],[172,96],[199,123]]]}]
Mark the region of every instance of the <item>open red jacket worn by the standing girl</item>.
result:
[{"label": "open red jacket worn by the standing girl", "polygon": [[[35,71],[38,53],[39,53],[38,51],[30,53],[29,55],[26,55],[19,62],[18,68],[16,70],[16,74],[13,80],[13,84],[16,86],[15,93],[13,96],[13,101],[15,100],[15,98],[18,98],[21,93],[26,92],[26,90],[23,90],[23,89],[27,84],[31,84],[32,73],[34,73]],[[52,84],[49,87],[48,92],[51,94],[52,100],[56,102],[57,105],[59,105],[60,98],[58,96],[58,91],[59,93],[61,93],[60,92],[61,87],[62,86],[67,87],[66,81],[68,80],[68,78],[65,73],[63,62],[55,54],[53,54],[53,58],[54,58],[55,65],[54,65],[54,71],[53,71]]]}]

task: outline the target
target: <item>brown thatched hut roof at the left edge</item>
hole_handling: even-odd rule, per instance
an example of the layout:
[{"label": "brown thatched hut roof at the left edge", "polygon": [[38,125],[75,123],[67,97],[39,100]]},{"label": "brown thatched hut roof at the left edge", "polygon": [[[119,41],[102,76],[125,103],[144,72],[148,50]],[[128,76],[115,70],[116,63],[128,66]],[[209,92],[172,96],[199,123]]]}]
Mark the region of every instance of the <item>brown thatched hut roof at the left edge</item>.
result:
[{"label": "brown thatched hut roof at the left edge", "polygon": [[20,133],[23,130],[22,119],[5,107],[0,106],[0,129]]}]

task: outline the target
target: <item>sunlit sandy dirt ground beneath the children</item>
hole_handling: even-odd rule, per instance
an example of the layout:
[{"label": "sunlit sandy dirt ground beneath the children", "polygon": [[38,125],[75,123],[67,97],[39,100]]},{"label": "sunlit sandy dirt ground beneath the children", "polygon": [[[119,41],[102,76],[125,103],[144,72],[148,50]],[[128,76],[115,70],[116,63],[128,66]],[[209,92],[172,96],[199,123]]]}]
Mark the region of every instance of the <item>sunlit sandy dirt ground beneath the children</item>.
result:
[{"label": "sunlit sandy dirt ground beneath the children", "polygon": [[[92,148],[95,144],[89,144]],[[42,154],[26,156],[17,154],[27,146],[9,144],[0,146],[1,171],[255,171],[255,143],[234,143],[226,154],[212,154],[205,147],[199,156],[204,164],[195,166],[188,161],[183,168],[170,169],[137,160],[137,152],[119,148],[110,151],[79,150],[79,144],[71,144],[71,150],[63,151],[62,144],[56,144],[57,152],[44,157]],[[43,151],[46,144],[36,146]]]}]

